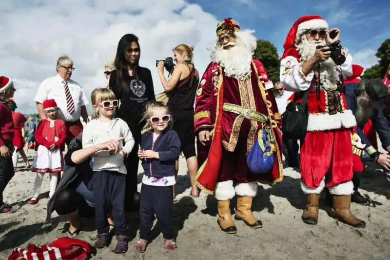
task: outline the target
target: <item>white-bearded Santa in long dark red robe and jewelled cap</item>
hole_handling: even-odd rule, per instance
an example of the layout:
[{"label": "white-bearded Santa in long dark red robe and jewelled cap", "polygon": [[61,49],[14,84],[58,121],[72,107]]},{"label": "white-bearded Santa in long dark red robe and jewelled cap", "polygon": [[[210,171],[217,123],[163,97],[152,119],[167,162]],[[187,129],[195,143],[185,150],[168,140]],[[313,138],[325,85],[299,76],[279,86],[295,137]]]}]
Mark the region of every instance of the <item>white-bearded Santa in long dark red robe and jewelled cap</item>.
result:
[{"label": "white-bearded Santa in long dark red robe and jewelled cap", "polygon": [[[195,101],[195,132],[199,171],[198,187],[218,200],[218,223],[227,233],[236,227],[229,208],[237,195],[236,220],[252,228],[262,222],[251,211],[257,193],[257,181],[277,183],[283,180],[280,114],[271,91],[272,81],[259,60],[252,59],[256,39],[251,31],[240,31],[231,18],[218,23],[218,43],[212,50],[212,62],[207,67],[197,89]],[[232,107],[238,112],[232,112]],[[255,120],[251,115],[263,115],[269,122]],[[246,156],[251,151],[257,133],[266,125],[272,129],[274,164],[264,174],[254,174],[248,168]]]}]

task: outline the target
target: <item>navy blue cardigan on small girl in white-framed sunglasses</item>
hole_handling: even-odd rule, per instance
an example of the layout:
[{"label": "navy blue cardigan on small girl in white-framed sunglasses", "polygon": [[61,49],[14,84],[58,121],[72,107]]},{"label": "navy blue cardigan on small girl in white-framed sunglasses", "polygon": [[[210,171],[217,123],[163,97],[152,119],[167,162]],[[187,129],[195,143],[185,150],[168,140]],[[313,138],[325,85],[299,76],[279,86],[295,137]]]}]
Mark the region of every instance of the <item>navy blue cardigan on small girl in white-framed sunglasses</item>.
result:
[{"label": "navy blue cardigan on small girl in white-framed sunglasses", "polygon": [[146,176],[157,178],[174,176],[175,163],[180,156],[180,140],[174,130],[162,132],[153,143],[153,131],[142,135],[141,150],[158,152],[159,159],[142,160],[142,167]]}]

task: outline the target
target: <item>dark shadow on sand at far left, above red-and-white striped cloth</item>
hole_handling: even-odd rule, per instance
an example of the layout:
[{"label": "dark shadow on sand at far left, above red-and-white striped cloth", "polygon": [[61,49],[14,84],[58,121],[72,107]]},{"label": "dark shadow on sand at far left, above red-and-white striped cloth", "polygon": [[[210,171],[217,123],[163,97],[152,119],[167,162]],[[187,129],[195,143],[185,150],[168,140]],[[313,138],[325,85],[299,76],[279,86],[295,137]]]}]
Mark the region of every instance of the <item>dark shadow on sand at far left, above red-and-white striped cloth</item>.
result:
[{"label": "dark shadow on sand at far left, above red-and-white striped cloth", "polygon": [[14,249],[15,247],[19,247],[37,235],[42,235],[56,229],[60,221],[60,217],[56,217],[52,219],[50,224],[40,222],[27,226],[21,226],[18,229],[9,231],[7,234],[3,235],[2,239],[0,240],[0,252],[6,249]]}]

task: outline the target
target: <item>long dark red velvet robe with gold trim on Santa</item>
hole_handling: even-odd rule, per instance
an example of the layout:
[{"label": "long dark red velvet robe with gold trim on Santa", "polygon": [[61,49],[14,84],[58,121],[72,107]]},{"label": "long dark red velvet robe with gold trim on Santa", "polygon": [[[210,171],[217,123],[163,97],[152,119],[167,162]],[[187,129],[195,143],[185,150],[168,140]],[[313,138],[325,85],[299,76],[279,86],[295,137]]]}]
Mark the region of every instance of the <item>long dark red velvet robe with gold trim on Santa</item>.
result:
[{"label": "long dark red velvet robe with gold trim on Santa", "polygon": [[[282,140],[279,129],[281,117],[272,91],[266,90],[265,82],[268,81],[267,72],[259,60],[252,62],[250,80],[240,82],[225,76],[222,68],[215,62],[211,62],[207,67],[195,100],[195,133],[209,130],[212,136],[206,146],[199,142],[197,144],[201,166],[195,176],[195,182],[206,193],[214,193],[221,166],[222,150],[232,152],[235,149],[243,123],[242,117],[236,120],[237,115],[222,110],[224,102],[250,108],[272,120],[273,136],[277,141],[275,162],[269,173],[258,175],[258,178],[261,178],[259,181],[273,184],[283,180]],[[259,127],[261,127],[260,122],[251,121],[251,131],[246,138],[247,153],[253,146]]]}]

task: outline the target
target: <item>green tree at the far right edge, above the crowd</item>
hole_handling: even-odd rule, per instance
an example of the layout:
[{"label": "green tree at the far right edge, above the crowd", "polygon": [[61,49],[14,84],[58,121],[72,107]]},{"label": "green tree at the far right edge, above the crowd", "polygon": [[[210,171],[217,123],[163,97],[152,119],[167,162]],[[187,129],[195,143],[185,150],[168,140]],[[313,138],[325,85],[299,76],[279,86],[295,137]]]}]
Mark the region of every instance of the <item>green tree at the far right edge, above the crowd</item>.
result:
[{"label": "green tree at the far right edge, above the crowd", "polygon": [[364,79],[382,79],[386,74],[390,64],[390,39],[382,42],[375,56],[379,59],[379,64],[368,68],[364,72]]}]

